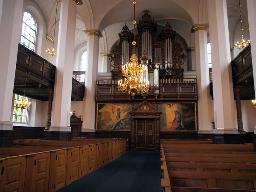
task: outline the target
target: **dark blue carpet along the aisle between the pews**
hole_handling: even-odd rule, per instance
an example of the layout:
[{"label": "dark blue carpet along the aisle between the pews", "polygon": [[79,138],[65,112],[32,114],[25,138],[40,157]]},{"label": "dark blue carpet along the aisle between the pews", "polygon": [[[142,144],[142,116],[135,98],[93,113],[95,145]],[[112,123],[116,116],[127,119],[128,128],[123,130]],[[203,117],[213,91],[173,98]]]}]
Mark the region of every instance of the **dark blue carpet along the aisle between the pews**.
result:
[{"label": "dark blue carpet along the aisle between the pews", "polygon": [[161,192],[160,166],[160,152],[127,151],[58,192]]}]

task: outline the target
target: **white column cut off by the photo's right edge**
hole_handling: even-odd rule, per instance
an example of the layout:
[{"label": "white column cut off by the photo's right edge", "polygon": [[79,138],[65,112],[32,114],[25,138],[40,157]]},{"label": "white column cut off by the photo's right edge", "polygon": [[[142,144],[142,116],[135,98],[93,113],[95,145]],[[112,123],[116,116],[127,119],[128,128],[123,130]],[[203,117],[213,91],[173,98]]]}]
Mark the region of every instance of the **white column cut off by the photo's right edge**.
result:
[{"label": "white column cut off by the photo's right edge", "polygon": [[[247,0],[248,20],[250,27],[250,46],[251,55],[253,61],[253,79],[256,85],[256,1]],[[256,86],[254,86],[256,93]],[[256,134],[256,126],[254,127],[254,133]]]}]

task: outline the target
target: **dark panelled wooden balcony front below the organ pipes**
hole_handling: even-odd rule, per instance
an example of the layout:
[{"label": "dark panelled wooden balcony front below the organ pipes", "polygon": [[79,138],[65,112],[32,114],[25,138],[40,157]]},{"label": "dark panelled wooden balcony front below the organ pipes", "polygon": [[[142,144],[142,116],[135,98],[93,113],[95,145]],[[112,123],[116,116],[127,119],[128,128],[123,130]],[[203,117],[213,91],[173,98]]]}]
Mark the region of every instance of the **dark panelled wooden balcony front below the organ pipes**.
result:
[{"label": "dark panelled wooden balcony front below the organ pipes", "polygon": [[[188,101],[197,100],[196,79],[160,79],[160,95],[155,98],[153,91],[148,91],[147,100],[153,101]],[[96,101],[127,101],[132,99],[128,93],[122,93],[117,88],[117,80],[96,81]],[[143,96],[136,94],[134,101],[144,100]]]}]

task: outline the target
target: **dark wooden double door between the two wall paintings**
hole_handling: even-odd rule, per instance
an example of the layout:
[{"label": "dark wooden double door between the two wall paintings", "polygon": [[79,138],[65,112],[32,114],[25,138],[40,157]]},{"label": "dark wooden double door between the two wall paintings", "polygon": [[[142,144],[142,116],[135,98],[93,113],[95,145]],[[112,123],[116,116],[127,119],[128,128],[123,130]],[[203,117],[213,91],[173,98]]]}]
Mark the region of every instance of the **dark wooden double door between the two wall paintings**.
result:
[{"label": "dark wooden double door between the two wall paintings", "polygon": [[136,120],[136,148],[155,148],[155,119]]}]

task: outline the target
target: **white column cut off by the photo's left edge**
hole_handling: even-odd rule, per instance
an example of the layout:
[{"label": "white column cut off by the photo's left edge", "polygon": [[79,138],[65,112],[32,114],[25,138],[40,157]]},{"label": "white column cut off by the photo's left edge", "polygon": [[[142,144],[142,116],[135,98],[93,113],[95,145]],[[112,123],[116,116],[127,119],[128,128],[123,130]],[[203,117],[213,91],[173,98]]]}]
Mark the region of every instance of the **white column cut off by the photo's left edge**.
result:
[{"label": "white column cut off by the photo's left edge", "polygon": [[12,95],[23,0],[0,0],[0,130],[12,130]]}]

